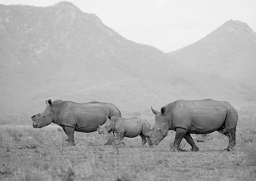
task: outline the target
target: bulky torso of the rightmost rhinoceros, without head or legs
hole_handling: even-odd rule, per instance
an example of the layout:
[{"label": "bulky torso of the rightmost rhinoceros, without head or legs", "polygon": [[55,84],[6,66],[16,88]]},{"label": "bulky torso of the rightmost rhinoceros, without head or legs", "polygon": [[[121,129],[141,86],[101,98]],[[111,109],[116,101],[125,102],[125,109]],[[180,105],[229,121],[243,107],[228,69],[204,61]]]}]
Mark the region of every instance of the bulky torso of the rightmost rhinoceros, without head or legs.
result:
[{"label": "bulky torso of the rightmost rhinoceros, without head or legs", "polygon": [[180,101],[175,105],[172,125],[174,129],[182,127],[190,133],[206,134],[216,131],[225,123],[228,123],[229,127],[235,127],[237,119],[226,121],[230,112],[236,111],[226,101]]}]

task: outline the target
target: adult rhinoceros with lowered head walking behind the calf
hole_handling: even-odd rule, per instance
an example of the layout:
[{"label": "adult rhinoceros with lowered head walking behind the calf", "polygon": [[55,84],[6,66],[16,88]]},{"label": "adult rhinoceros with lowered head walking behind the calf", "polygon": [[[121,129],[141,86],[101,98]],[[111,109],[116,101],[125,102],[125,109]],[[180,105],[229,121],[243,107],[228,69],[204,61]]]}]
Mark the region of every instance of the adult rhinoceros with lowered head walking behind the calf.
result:
[{"label": "adult rhinoceros with lowered head walking behind the calf", "polygon": [[176,131],[171,151],[178,151],[182,138],[192,146],[192,151],[198,151],[192,134],[207,134],[218,131],[229,138],[228,147],[235,146],[235,131],[237,126],[237,111],[226,101],[177,100],[161,108],[160,112],[151,108],[155,114],[155,125],[146,136],[150,145],[158,144],[169,130]]}]

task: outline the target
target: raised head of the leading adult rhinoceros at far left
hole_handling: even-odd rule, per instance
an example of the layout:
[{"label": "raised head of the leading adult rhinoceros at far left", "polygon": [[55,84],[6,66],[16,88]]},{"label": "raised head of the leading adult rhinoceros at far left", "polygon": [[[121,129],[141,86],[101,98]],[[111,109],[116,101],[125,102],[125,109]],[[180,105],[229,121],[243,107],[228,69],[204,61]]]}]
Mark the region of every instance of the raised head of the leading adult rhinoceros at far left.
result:
[{"label": "raised head of the leading adult rhinoceros at far left", "polygon": [[54,116],[55,116],[55,107],[54,107],[53,103],[51,102],[51,99],[46,101],[46,104],[47,104],[47,106],[46,106],[46,109],[44,110],[44,112],[39,113],[37,115],[33,115],[31,117],[31,119],[33,121],[34,128],[45,127],[53,121]]}]

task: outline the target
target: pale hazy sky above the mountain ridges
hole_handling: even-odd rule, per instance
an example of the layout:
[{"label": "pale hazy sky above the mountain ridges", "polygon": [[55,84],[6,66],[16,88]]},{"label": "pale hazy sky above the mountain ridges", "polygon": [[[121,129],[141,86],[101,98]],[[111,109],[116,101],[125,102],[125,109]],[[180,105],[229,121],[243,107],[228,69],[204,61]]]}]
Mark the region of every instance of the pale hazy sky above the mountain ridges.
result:
[{"label": "pale hazy sky above the mountain ridges", "polygon": [[[0,0],[50,6],[60,0]],[[256,32],[256,0],[69,0],[95,13],[123,37],[171,52],[205,37],[224,22],[246,22]]]}]

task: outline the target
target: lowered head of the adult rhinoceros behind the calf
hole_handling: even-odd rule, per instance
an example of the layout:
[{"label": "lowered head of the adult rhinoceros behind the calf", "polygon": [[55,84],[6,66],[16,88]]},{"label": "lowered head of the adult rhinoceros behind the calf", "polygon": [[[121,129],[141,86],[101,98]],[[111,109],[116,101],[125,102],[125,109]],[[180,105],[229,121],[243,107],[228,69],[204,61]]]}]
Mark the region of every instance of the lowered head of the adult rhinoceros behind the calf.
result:
[{"label": "lowered head of the adult rhinoceros behind the calf", "polygon": [[153,129],[146,133],[149,145],[157,145],[169,131],[169,119],[168,115],[165,114],[165,107],[161,108],[161,112],[157,112],[151,108],[155,114],[155,125]]}]

